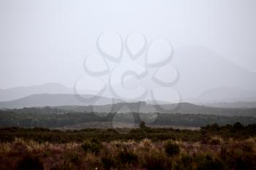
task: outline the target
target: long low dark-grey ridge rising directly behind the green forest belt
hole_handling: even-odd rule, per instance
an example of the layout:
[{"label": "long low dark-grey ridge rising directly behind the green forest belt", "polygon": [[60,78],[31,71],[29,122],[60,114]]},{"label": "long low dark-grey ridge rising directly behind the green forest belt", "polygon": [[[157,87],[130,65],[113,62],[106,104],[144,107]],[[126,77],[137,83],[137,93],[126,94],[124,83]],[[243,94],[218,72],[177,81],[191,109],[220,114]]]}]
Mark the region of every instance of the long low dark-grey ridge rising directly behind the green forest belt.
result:
[{"label": "long low dark-grey ridge rising directly behind the green forest belt", "polygon": [[[108,99],[106,99],[108,100]],[[54,105],[54,104],[52,104]],[[196,104],[180,103],[180,104],[161,104],[152,105],[146,104],[146,102],[119,102],[116,104],[106,105],[66,105],[66,106],[53,106],[53,107],[29,107],[24,109],[7,109],[10,112],[17,113],[35,113],[35,114],[61,114],[65,112],[94,112],[96,115],[100,113],[130,113],[140,112],[149,115],[156,115],[159,113],[167,114],[202,114],[202,115],[222,115],[222,116],[250,116],[256,117],[256,108],[220,108],[220,107],[206,107]],[[100,116],[101,117],[101,116]]]}]

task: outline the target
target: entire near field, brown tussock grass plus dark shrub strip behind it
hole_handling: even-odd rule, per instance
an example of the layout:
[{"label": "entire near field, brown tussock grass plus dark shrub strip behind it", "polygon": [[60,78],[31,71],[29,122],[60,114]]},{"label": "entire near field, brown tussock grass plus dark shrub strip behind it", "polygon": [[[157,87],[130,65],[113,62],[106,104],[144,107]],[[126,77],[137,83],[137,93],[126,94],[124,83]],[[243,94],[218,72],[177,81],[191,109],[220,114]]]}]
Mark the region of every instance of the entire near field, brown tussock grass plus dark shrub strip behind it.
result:
[{"label": "entire near field, brown tussock grass plus dark shrub strip behind it", "polygon": [[256,125],[1,128],[0,169],[255,169]]}]

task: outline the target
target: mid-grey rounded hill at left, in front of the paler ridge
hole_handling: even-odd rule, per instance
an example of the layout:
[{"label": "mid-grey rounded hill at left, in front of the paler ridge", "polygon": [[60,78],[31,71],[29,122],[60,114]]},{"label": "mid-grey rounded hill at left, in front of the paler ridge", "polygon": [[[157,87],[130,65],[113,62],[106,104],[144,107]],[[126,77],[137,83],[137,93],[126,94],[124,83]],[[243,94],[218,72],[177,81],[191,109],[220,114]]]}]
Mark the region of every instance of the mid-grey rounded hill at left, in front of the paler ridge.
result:
[{"label": "mid-grey rounded hill at left, in front of the paler ridge", "polygon": [[[91,98],[91,95],[81,95],[82,98]],[[97,96],[97,104],[112,104],[121,102],[121,100],[114,98],[105,98],[102,96]],[[5,109],[18,109],[23,107],[53,107],[53,106],[63,106],[63,105],[90,105],[94,104],[92,101],[83,102],[74,94],[34,94],[31,96],[26,96],[24,98],[19,98],[12,101],[1,101],[0,108]]]}]

